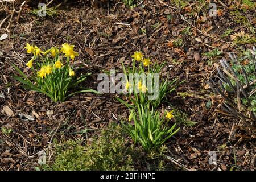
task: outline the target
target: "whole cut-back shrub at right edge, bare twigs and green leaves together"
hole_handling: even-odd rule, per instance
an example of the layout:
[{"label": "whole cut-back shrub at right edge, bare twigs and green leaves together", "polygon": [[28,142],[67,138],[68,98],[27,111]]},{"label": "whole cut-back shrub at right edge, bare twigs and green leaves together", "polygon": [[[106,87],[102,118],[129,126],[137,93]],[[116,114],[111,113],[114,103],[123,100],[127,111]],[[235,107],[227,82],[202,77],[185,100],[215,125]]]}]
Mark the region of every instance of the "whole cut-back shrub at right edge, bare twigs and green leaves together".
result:
[{"label": "whole cut-back shrub at right edge, bare twigs and green leaves together", "polygon": [[[256,49],[246,51],[242,57],[229,53],[231,61],[220,60],[218,85],[210,78],[209,86],[224,100],[222,111],[241,121],[242,130],[255,137],[256,126]],[[240,126],[241,126],[240,125]]]}]

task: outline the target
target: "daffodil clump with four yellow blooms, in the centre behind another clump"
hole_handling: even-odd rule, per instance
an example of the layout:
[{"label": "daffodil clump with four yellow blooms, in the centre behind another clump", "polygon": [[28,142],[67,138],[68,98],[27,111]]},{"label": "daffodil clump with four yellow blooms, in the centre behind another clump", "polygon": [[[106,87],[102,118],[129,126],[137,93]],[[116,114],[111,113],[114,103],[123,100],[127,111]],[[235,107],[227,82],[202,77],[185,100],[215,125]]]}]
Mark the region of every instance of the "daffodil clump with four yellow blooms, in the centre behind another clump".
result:
[{"label": "daffodil clump with four yellow blooms, in the centre behind another clump", "polygon": [[[149,102],[154,108],[158,107],[166,94],[175,90],[177,79],[168,81],[168,76],[165,80],[160,78],[160,72],[165,62],[162,64],[157,62],[152,63],[149,57],[144,57],[142,52],[138,51],[134,52],[134,55],[131,57],[131,68],[125,68],[125,65],[122,64],[123,72],[126,76],[126,80],[124,81],[126,93],[129,94],[133,105],[135,103],[146,105]],[[129,75],[131,74],[134,75],[133,80],[129,80]],[[140,75],[144,75],[147,79],[151,78],[151,85],[147,85],[148,80],[143,80]],[[155,80],[155,75],[158,75],[159,80]],[[158,93],[157,97],[155,99],[148,99],[148,96],[152,95],[153,92]],[[120,98],[117,98],[117,100],[127,105],[127,102]]]}]

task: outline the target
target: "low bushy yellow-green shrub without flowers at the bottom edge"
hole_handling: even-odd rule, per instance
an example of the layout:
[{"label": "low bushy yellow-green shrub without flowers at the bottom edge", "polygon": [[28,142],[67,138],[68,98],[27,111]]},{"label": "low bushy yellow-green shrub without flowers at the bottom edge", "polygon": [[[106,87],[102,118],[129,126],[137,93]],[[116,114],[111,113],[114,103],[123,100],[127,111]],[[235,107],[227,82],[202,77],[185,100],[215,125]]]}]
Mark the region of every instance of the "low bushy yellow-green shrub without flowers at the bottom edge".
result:
[{"label": "low bushy yellow-green shrub without flowers at the bottom edge", "polygon": [[134,170],[132,156],[136,149],[128,146],[122,127],[115,123],[92,138],[92,143],[83,145],[80,140],[56,144],[56,156],[44,170]]}]

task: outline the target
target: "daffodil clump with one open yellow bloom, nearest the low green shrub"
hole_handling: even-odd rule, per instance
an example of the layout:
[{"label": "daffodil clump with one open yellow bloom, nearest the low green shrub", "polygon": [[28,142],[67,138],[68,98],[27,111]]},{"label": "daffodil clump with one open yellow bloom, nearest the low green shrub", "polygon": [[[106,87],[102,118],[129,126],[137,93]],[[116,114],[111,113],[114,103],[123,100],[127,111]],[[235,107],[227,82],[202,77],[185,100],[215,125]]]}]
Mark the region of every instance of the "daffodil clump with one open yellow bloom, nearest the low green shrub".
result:
[{"label": "daffodil clump with one open yellow bloom, nearest the low green shrub", "polygon": [[133,139],[134,143],[137,142],[142,145],[145,151],[150,152],[158,149],[171,138],[172,135],[179,131],[175,130],[176,123],[171,128],[168,122],[173,117],[172,112],[164,112],[164,117],[160,117],[158,111],[154,111],[150,104],[137,105],[138,114],[131,110],[129,122],[133,121],[134,124],[128,123],[127,125],[122,121],[127,133]]}]

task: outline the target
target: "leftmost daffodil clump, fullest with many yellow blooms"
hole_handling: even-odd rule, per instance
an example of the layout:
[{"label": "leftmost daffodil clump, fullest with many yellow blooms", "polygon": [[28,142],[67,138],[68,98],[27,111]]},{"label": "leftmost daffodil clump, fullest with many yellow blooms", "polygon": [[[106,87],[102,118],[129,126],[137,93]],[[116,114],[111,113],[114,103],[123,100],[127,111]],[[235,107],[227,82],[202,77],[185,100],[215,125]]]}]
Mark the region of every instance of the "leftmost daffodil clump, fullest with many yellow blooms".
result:
[{"label": "leftmost daffodil clump, fullest with many yellow blooms", "polygon": [[27,49],[27,53],[32,54],[32,58],[26,66],[32,74],[28,77],[13,64],[16,71],[22,76],[15,75],[14,78],[22,82],[24,88],[46,94],[54,102],[65,101],[76,93],[97,93],[92,89],[71,92],[71,88],[75,88],[91,74],[78,75],[75,72],[76,68],[72,62],[76,56],[79,56],[79,53],[74,51],[74,47],[74,45],[64,43],[61,48],[51,47],[42,51],[37,46],[27,43],[24,48]]}]

